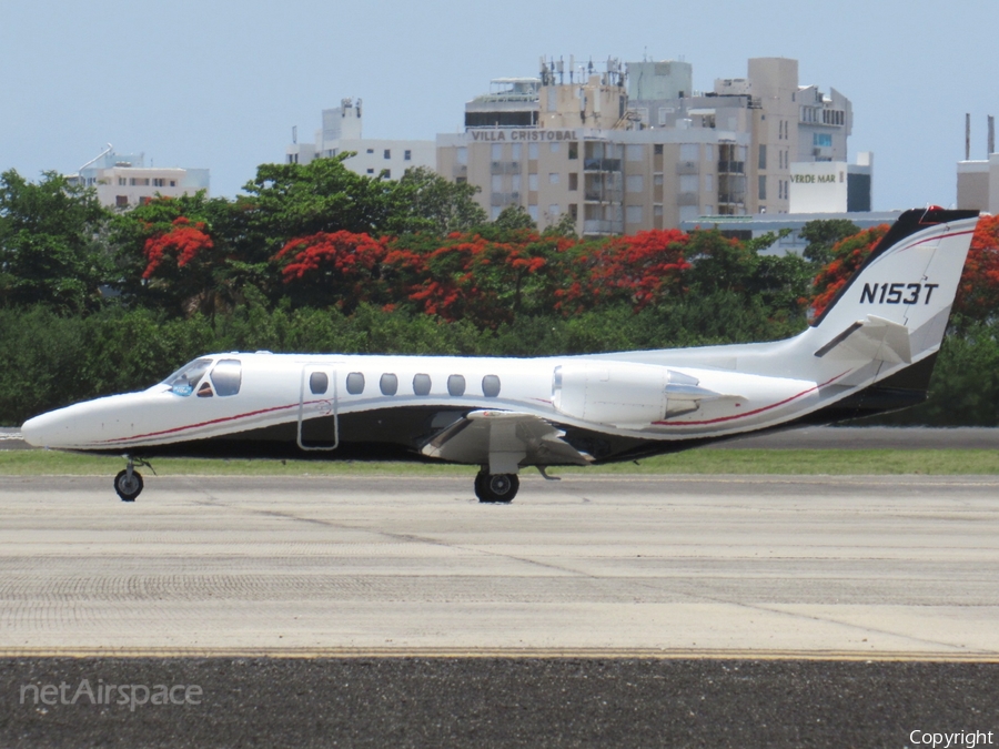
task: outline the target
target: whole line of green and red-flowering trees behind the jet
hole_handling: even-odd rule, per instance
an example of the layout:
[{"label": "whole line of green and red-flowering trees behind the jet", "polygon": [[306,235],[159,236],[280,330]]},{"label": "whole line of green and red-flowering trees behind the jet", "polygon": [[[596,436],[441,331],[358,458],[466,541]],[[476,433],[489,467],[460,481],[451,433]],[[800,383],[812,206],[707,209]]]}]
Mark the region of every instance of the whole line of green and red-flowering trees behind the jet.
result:
[{"label": "whole line of green and red-flowering trees behind the jet", "polygon": [[[579,239],[428,170],[266,164],[234,200],[104,209],[56,173],[0,174],[0,423],[149,386],[210,351],[527,356],[776,340],[884,234],[807,224],[803,255],[717,231]],[[979,224],[927,404],[999,423],[999,220]]]}]

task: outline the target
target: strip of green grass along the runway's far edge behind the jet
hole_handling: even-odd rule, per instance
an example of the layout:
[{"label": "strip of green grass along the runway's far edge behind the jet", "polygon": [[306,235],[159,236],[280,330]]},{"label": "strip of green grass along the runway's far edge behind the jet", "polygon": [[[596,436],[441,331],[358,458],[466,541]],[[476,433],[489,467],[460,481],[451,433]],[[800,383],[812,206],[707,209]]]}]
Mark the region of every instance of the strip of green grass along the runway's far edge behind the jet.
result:
[{"label": "strip of green grass along the runway's far edge behind the jet", "polygon": [[[0,452],[0,476],[111,476],[118,457],[50,451]],[[463,476],[473,466],[337,460],[153,460],[160,476]],[[602,474],[775,474],[775,475],[997,475],[999,451],[989,449],[695,449],[634,463],[549,473]]]}]

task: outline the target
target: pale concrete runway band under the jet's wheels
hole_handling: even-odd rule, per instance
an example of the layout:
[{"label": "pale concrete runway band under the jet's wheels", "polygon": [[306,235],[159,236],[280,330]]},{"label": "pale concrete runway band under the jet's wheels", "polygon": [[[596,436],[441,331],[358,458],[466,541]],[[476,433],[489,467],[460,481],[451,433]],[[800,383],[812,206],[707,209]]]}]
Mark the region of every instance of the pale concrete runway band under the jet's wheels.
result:
[{"label": "pale concrete runway band under the jet's wheels", "polygon": [[0,651],[999,658],[999,478],[6,477]]}]

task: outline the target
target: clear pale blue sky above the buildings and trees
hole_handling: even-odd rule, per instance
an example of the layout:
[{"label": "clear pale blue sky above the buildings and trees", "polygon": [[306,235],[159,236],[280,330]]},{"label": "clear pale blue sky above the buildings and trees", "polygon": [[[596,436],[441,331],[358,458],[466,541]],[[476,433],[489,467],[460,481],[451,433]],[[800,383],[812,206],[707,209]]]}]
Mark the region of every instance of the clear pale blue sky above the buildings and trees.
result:
[{"label": "clear pale blue sky above the buildings and trees", "polygon": [[0,170],[73,172],[113,143],[206,166],[231,196],[344,97],[364,100],[366,136],[433,139],[541,54],[683,57],[697,90],[788,57],[801,84],[852,100],[875,209],[949,205],[965,112],[978,159],[999,115],[996,16],[966,0],[0,0]]}]

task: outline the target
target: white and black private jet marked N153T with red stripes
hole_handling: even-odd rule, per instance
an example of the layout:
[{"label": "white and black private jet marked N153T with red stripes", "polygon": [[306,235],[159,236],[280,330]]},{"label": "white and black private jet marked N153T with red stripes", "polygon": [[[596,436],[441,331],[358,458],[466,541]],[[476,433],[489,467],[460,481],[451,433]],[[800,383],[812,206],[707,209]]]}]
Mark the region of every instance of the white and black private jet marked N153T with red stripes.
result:
[{"label": "white and black private jet marked N153T with red stripes", "polygon": [[[670,453],[919,403],[978,212],[904,213],[808,330],[786,341],[542,358],[229,353],[141,393],[29,419],[39,447],[121,455],[443,460],[511,502],[528,466]],[[547,477],[547,476],[546,476]]]}]

